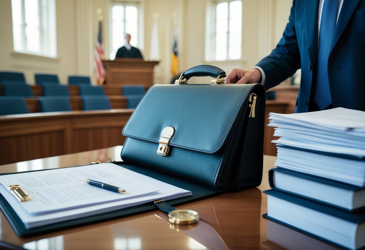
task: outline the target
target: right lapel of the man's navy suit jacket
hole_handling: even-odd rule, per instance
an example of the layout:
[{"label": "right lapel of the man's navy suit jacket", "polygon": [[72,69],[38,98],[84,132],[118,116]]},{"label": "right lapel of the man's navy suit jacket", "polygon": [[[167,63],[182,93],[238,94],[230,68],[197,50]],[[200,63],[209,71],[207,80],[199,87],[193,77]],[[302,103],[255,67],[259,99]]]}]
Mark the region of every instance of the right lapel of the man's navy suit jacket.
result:
[{"label": "right lapel of the man's navy suit jacket", "polygon": [[354,10],[360,0],[343,0],[343,4],[341,7],[340,15],[338,16],[335,33],[333,34],[332,44],[331,44],[331,51],[335,47],[338,39],[342,35],[343,30],[349,23],[349,20],[354,13]]}]

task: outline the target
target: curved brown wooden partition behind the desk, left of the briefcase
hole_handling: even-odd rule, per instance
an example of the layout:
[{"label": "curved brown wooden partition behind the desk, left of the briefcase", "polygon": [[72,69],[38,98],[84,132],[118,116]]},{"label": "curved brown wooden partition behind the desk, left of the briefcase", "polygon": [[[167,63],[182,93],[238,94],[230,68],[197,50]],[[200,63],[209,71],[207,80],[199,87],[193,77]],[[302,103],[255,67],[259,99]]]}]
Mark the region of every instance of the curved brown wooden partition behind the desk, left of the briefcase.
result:
[{"label": "curved brown wooden partition behind the desk, left of the briefcase", "polygon": [[0,165],[123,144],[133,110],[0,116]]}]

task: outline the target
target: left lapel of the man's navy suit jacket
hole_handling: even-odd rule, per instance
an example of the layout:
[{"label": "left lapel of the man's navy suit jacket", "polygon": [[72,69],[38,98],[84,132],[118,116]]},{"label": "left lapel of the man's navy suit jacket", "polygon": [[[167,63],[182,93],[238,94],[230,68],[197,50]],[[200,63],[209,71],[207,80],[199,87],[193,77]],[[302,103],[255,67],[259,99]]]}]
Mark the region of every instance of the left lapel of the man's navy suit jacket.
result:
[{"label": "left lapel of the man's navy suit jacket", "polygon": [[319,0],[306,1],[306,37],[310,61],[315,63],[318,47],[318,8]]}]

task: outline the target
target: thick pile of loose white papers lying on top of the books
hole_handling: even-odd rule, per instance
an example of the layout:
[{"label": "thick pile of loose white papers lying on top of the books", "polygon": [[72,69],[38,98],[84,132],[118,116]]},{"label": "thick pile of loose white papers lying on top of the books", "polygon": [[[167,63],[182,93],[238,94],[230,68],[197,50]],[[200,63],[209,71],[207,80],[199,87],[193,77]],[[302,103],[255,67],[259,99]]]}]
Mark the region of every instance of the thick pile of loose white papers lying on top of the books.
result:
[{"label": "thick pile of loose white papers lying on top of the books", "polygon": [[335,108],[270,113],[269,119],[280,137],[272,141],[278,146],[276,166],[365,185],[365,112]]}]

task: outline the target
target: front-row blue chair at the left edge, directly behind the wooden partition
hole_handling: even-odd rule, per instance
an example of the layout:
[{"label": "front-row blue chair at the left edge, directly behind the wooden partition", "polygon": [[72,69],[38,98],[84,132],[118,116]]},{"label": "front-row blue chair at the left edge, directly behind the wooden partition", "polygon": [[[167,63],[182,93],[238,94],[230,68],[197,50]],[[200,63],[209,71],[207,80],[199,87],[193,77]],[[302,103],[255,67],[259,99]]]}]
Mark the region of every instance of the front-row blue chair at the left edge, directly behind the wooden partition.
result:
[{"label": "front-row blue chair at the left edge, directly behind the wooden partition", "polygon": [[23,97],[0,96],[0,115],[29,113],[27,103]]}]

